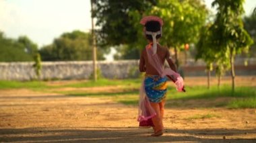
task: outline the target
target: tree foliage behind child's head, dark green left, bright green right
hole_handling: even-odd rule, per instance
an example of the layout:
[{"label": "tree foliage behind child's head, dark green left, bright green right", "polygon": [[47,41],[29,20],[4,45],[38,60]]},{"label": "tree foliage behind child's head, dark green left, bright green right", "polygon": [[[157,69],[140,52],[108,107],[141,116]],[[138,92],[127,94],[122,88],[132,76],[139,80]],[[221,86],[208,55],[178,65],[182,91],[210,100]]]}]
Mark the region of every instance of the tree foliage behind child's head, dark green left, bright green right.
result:
[{"label": "tree foliage behind child's head, dark green left, bright green right", "polygon": [[100,26],[98,39],[106,45],[118,47],[121,53],[116,58],[139,58],[141,48],[146,45],[139,20],[145,15],[158,15],[164,19],[161,44],[177,48],[197,41],[207,15],[207,9],[200,0],[95,2],[96,23]]}]

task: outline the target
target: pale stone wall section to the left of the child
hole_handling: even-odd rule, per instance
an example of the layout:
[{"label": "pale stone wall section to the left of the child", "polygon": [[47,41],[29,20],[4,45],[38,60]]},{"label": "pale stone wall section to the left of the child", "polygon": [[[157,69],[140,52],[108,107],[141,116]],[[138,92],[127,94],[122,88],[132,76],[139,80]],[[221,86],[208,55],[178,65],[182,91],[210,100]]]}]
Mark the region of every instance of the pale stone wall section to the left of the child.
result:
[{"label": "pale stone wall section to the left of the child", "polygon": [[[129,75],[135,76],[138,73],[138,60],[99,61],[97,63],[102,76],[108,79],[125,79]],[[36,79],[33,64],[33,62],[0,62],[0,80]],[[42,62],[40,78],[42,80],[89,79],[92,71],[92,61]]]}]

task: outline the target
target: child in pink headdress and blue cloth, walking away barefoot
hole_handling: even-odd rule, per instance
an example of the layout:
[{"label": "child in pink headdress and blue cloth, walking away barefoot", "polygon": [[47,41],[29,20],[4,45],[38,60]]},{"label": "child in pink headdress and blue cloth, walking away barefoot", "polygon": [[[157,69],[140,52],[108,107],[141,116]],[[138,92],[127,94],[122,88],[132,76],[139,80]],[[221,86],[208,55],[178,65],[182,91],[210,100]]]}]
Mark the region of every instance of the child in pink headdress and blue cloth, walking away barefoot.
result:
[{"label": "child in pink headdress and blue cloth, walking away barefoot", "polygon": [[[167,77],[176,81],[179,91],[183,90],[183,79],[177,74],[177,68],[170,58],[168,48],[158,44],[162,36],[162,19],[147,16],[143,17],[140,23],[144,26],[144,34],[149,44],[141,52],[139,60],[139,70],[146,72],[146,76],[141,84],[138,121],[139,126],[153,127],[154,134],[151,136],[162,136]],[[170,68],[164,69],[165,60]]]}]

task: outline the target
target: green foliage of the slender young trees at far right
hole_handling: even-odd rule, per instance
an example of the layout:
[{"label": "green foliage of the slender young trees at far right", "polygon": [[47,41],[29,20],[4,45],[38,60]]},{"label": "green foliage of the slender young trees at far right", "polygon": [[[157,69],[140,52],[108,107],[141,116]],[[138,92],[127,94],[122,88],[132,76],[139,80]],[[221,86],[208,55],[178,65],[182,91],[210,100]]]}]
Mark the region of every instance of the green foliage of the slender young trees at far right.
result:
[{"label": "green foliage of the slender young trees at far right", "polygon": [[[197,43],[196,58],[201,58],[206,62],[208,72],[210,64],[216,65],[218,85],[220,85],[220,77],[230,68],[234,88],[234,56],[247,52],[251,44],[251,38],[243,29],[241,21],[241,15],[244,12],[243,1],[216,0],[212,5],[218,6],[218,13],[214,23],[211,26],[205,26],[201,32]],[[245,17],[248,29],[250,29],[250,20]],[[255,27],[254,25],[253,23],[251,26]]]}]

